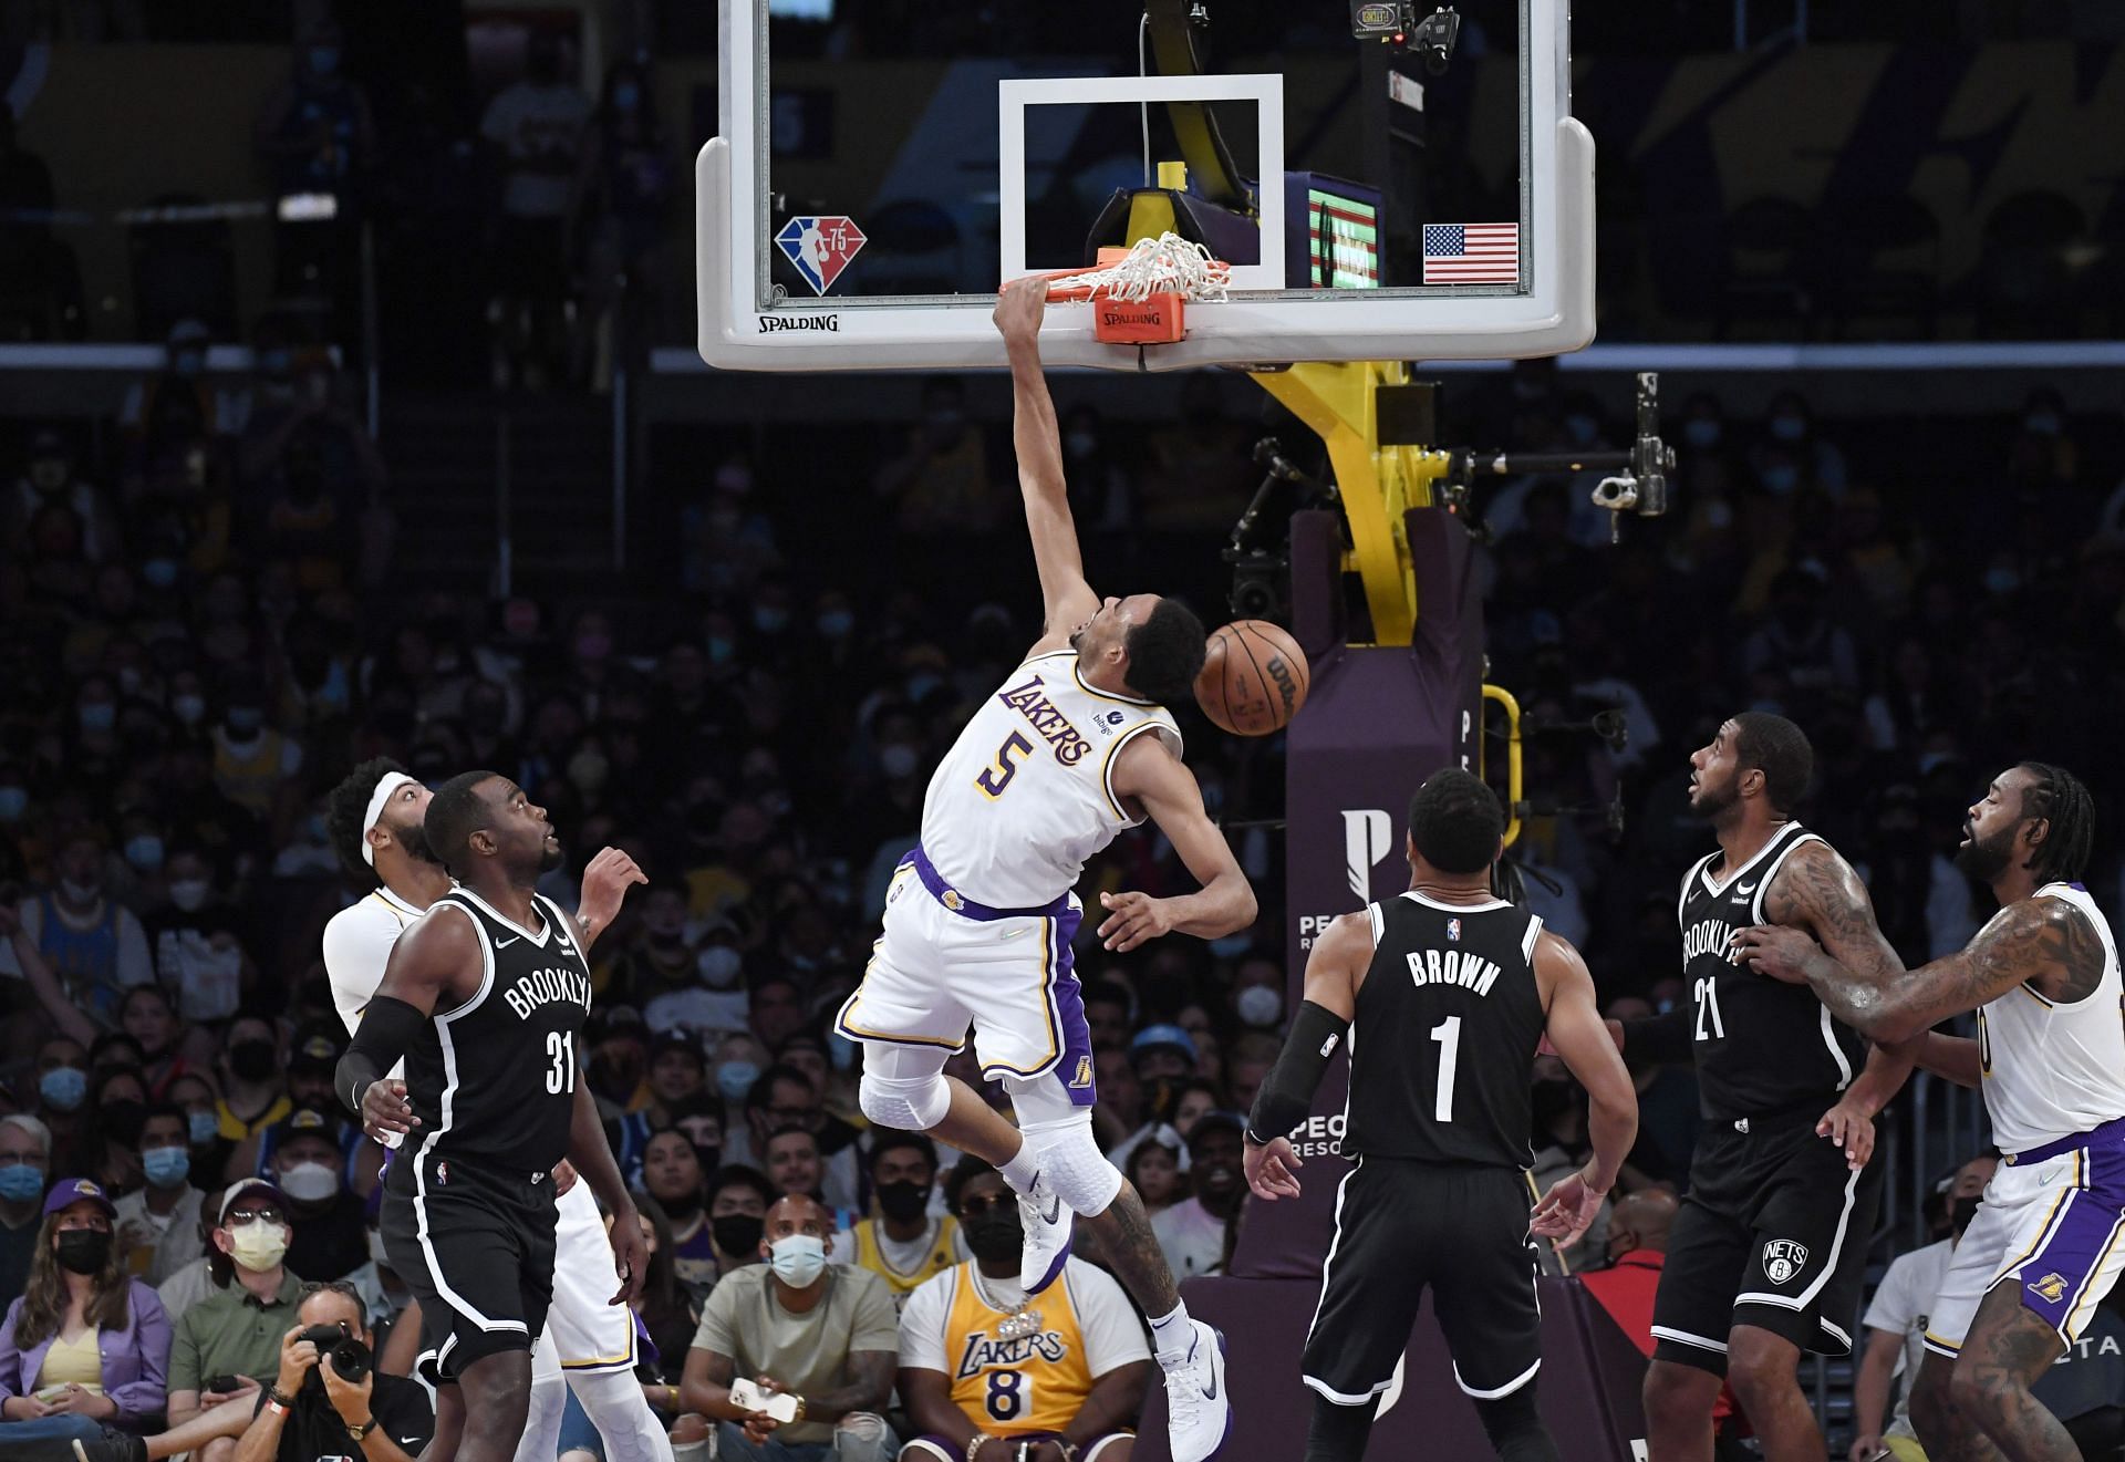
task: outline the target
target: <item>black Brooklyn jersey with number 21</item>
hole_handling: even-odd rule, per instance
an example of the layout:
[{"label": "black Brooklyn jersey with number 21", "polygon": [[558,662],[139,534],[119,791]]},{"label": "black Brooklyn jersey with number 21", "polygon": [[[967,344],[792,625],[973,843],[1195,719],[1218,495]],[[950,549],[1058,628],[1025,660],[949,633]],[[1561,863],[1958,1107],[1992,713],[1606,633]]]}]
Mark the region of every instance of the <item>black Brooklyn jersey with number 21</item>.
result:
[{"label": "black Brooklyn jersey with number 21", "polygon": [[1732,956],[1736,929],[1764,922],[1764,892],[1802,844],[1823,842],[1798,822],[1713,882],[1719,852],[1683,876],[1683,978],[1689,980],[1698,1099],[1708,1120],[1830,1107],[1866,1065],[1866,1039],[1804,984],[1760,975]]}]

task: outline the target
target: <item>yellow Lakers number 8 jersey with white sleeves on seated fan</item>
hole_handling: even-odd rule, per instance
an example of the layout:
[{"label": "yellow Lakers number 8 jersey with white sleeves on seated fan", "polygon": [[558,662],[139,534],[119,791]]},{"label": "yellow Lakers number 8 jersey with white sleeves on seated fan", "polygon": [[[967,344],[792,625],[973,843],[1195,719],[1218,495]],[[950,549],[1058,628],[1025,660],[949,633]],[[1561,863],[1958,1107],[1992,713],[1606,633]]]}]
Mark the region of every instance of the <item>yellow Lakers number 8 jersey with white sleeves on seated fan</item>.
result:
[{"label": "yellow Lakers number 8 jersey with white sleeves on seated fan", "polygon": [[941,1371],[952,1402],[992,1436],[1060,1432],[1092,1381],[1150,1358],[1122,1286],[1075,1258],[1031,1300],[967,1260],[916,1290],[901,1315],[901,1364]]}]

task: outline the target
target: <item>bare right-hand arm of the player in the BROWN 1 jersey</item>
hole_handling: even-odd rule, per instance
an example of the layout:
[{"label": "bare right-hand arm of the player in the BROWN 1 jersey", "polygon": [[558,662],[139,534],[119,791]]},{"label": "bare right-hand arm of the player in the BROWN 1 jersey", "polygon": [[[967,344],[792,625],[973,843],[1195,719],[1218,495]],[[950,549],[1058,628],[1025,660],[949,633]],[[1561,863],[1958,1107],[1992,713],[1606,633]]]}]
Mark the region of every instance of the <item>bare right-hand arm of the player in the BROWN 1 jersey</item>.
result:
[{"label": "bare right-hand arm of the player in the BROWN 1 jersey", "polygon": [[1587,1090],[1587,1141],[1594,1156],[1534,1205],[1534,1232],[1577,1239],[1600,1211],[1615,1175],[1638,1141],[1638,1092],[1615,1050],[1615,1037],[1594,1001],[1594,975],[1570,941],[1543,931],[1534,944],[1534,980],[1549,1007],[1545,1031],[1564,1069]]}]

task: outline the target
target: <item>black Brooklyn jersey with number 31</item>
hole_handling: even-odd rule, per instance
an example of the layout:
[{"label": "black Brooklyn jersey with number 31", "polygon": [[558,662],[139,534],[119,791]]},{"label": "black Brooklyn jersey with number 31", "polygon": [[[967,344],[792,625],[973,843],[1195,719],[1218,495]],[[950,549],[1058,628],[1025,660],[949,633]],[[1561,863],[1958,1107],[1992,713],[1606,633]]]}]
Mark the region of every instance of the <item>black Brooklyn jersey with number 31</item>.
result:
[{"label": "black Brooklyn jersey with number 31", "polygon": [[591,965],[574,920],[544,895],[533,903],[538,931],[463,886],[427,912],[470,918],[487,967],[472,999],[438,1009],[406,1052],[406,1099],[421,1118],[410,1141],[421,1156],[518,1173],[544,1173],[567,1156]]}]

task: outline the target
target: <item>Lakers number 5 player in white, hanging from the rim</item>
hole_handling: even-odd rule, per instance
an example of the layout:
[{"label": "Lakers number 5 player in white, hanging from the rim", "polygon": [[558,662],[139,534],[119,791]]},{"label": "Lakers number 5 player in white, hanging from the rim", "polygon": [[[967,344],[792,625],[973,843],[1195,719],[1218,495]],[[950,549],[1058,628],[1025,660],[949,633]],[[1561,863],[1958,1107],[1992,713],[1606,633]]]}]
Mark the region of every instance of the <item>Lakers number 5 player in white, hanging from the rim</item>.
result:
[{"label": "Lakers number 5 player in white, hanging from the rim", "polygon": [[[1175,1462],[1203,1462],[1230,1424],[1220,1341],[1188,1318],[1143,1201],[1092,1139],[1092,1039],[1071,973],[1082,910],[1071,884],[1116,833],[1152,818],[1203,890],[1101,895],[1099,937],[1109,950],[1245,929],[1254,890],[1203,812],[1179,731],[1160,708],[1190,693],[1203,625],[1171,599],[1101,599],[1084,580],[1041,378],[1043,306],[1037,278],[1005,287],[997,304],[1043,631],[937,765],[922,844],[892,876],[884,937],[835,1028],[865,1043],[865,1116],[980,1154],[1018,1192],[1028,1294],[1062,1271],[1071,1213],[1096,1220],[1103,1254],[1152,1315]],[[944,1075],[969,1024],[982,1073],[1012,1094],[1016,1130]]]}]

